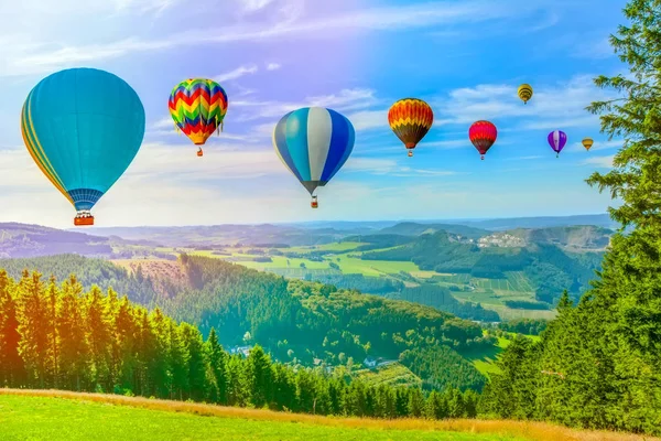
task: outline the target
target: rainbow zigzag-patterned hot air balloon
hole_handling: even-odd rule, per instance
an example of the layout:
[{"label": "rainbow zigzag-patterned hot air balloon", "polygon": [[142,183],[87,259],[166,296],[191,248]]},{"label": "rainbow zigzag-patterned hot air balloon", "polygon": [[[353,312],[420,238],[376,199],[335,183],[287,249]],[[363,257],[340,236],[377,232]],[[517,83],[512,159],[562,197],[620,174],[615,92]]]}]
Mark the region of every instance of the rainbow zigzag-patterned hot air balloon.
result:
[{"label": "rainbow zigzag-patterned hot air balloon", "polygon": [[212,79],[189,78],[174,86],[169,108],[177,131],[183,131],[197,146],[197,155],[202,157],[202,146],[214,131],[223,130],[227,94]]}]

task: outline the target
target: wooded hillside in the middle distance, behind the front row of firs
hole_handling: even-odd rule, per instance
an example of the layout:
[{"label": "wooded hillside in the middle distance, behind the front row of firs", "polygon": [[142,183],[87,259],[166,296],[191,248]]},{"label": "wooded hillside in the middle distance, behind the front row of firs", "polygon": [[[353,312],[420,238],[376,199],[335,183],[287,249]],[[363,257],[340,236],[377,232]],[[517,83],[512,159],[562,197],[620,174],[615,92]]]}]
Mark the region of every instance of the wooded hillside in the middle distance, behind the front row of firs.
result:
[{"label": "wooded hillside in the middle distance, behind the front row of firs", "polygon": [[[25,268],[58,280],[76,273],[85,289],[112,288],[141,305],[159,306],[175,320],[195,324],[205,337],[214,327],[225,346],[259,344],[274,361],[292,366],[313,366],[315,359],[332,366],[346,365],[349,358],[359,364],[367,356],[398,361],[408,349],[419,349],[415,359],[421,359],[433,354],[427,349],[447,347],[444,354],[453,356],[436,359],[438,368],[431,373],[437,377],[424,378],[438,390],[446,384],[480,390],[485,377],[470,364],[455,370],[454,359],[496,342],[483,335],[478,324],[431,306],[286,280],[213,258],[182,255],[178,267],[185,277],[178,282],[145,276],[141,267],[132,273],[73,255],[4,260],[0,266],[14,278]],[[402,363],[415,373],[412,361]]]}]

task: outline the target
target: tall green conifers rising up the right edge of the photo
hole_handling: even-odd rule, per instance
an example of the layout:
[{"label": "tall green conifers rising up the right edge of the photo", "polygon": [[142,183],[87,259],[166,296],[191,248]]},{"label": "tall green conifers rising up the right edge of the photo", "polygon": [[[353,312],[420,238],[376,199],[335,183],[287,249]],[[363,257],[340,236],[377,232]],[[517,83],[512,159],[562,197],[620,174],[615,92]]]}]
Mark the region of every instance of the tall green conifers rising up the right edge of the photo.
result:
[{"label": "tall green conifers rising up the right edge of the photo", "polygon": [[625,17],[610,44],[630,72],[595,78],[619,98],[588,107],[624,138],[613,169],[587,180],[618,200],[620,229],[590,289],[578,301],[564,292],[539,343],[501,354],[480,413],[661,434],[661,9],[632,0]]}]

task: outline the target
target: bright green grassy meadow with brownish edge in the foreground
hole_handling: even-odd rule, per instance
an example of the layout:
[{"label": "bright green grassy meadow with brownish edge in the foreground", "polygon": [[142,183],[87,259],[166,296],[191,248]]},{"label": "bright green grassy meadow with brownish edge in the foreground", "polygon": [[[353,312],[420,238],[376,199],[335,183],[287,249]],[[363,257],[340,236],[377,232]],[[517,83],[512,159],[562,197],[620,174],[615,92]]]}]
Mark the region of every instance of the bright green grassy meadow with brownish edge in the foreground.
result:
[{"label": "bright green grassy meadow with brownish edge in the foreground", "polygon": [[[212,418],[209,418],[212,417]],[[0,439],[633,441],[642,437],[520,421],[328,418],[59,390],[0,389]],[[658,439],[644,438],[647,441]]]}]

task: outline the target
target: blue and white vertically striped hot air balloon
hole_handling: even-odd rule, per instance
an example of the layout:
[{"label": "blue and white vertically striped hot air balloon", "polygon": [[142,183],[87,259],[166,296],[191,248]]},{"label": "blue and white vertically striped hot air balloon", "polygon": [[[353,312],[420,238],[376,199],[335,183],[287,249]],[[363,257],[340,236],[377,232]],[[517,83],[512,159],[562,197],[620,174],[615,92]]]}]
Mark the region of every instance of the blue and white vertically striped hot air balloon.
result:
[{"label": "blue and white vertically striped hot air balloon", "polygon": [[273,148],[318,206],[314,191],[339,171],[354,150],[351,122],[335,110],[304,107],[282,117],[273,130]]}]

